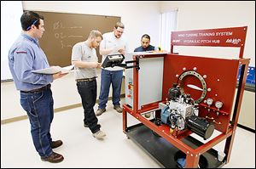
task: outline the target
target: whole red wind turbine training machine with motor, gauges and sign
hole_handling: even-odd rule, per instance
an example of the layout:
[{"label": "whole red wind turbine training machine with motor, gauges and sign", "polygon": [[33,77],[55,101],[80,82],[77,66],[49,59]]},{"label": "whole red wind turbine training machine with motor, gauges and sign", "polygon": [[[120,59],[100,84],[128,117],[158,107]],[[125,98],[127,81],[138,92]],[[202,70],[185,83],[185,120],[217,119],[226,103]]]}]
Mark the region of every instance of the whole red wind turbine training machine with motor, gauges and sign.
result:
[{"label": "whole red wind turbine training machine with motor, gauges and sign", "polygon": [[[246,33],[247,26],[173,31],[170,54],[126,54],[133,64],[133,69],[125,70],[127,137],[161,166],[228,163],[249,64],[243,58]],[[232,47],[240,52],[236,59],[189,56],[174,53],[177,46]],[[128,115],[139,122],[128,127]],[[224,139],[222,155],[212,147]]]}]

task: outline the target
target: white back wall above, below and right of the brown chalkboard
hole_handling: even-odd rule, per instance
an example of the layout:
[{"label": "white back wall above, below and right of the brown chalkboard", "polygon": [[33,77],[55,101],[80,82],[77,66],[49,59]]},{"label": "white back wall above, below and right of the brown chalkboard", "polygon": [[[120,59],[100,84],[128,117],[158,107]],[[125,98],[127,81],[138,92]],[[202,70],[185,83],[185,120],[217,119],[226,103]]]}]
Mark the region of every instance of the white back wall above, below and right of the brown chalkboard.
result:
[{"label": "white back wall above, below and right of the brown chalkboard", "polygon": [[[151,36],[152,44],[160,44],[160,7],[158,2],[23,1],[22,5],[25,10],[120,16],[121,21],[125,24],[124,36],[132,51],[140,46],[140,39],[144,33]],[[44,21],[44,24],[46,22],[47,20]],[[98,74],[100,76],[99,72]],[[99,95],[100,77],[97,84],[97,94]],[[81,103],[73,74],[53,82],[52,91],[55,108]],[[112,91],[109,96],[112,96]],[[15,89],[14,82],[1,83],[1,120],[20,115],[26,115],[26,112],[20,106],[20,95]]]}]

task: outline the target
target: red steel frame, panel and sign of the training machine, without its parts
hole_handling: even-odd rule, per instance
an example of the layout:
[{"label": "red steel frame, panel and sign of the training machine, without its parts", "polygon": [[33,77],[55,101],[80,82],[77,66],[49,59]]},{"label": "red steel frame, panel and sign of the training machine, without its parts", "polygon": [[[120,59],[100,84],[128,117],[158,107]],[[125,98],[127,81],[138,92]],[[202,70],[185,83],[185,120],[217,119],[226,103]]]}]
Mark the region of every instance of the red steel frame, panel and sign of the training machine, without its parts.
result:
[{"label": "red steel frame, panel and sign of the training machine, without its parts", "polygon": [[[149,121],[143,115],[143,112],[154,110],[158,108],[158,103],[155,102],[152,104],[143,105],[142,109],[138,107],[138,69],[133,69],[133,108],[127,104],[123,104],[123,132],[127,132],[127,112],[137,118],[138,121],[141,121],[145,126],[158,133],[162,138],[166,138],[168,142],[177,147],[186,154],[186,166],[185,167],[197,167],[199,163],[200,155],[207,152],[207,150],[212,149],[212,147],[224,139],[226,139],[224,153],[226,154],[225,161],[228,163],[230,161],[230,153],[232,145],[234,142],[237,122],[241,109],[241,100],[244,92],[244,87],[247,78],[247,68],[249,64],[249,59],[243,59],[243,49],[246,39],[247,26],[236,27],[236,28],[222,28],[222,29],[212,29],[212,30],[197,30],[197,31],[177,31],[172,32],[172,44],[171,44],[171,54],[152,54],[152,55],[137,55],[133,56],[133,60],[143,59],[143,58],[154,58],[154,57],[163,57],[164,56],[164,72],[163,72],[163,88],[162,88],[162,100],[159,102],[165,102],[165,96],[168,88],[172,87],[172,83],[176,82],[172,74],[180,73],[180,67],[176,67],[177,63],[180,63],[182,66],[191,67],[191,62],[197,63],[198,71],[201,72],[207,71],[207,83],[213,84],[214,79],[220,77],[221,79],[227,78],[228,80],[222,83],[221,87],[213,86],[212,88],[217,88],[218,92],[226,92],[224,95],[221,95],[221,99],[224,100],[225,108],[220,111],[222,115],[219,115],[218,120],[221,121],[221,125],[215,124],[215,129],[222,132],[217,137],[212,138],[206,144],[202,144],[196,149],[192,149],[189,145],[184,144],[181,141],[181,138],[184,138],[191,134],[190,131],[184,132],[182,135],[177,138],[173,137],[170,134],[170,127],[167,125],[156,126],[152,121]],[[204,34],[205,33],[205,34]],[[182,36],[179,36],[182,35]],[[190,36],[189,36],[190,35]],[[201,35],[201,37],[195,38],[195,35]],[[203,36],[205,35],[205,36]],[[210,37],[209,37],[210,36]],[[189,39],[192,37],[192,40]],[[207,42],[207,43],[206,43]],[[218,45],[215,43],[218,42]],[[232,43],[233,42],[233,43]],[[239,59],[211,59],[211,58],[197,58],[194,56],[182,56],[178,54],[173,54],[173,46],[221,46],[221,47],[239,47],[240,54]],[[177,62],[177,63],[176,63]],[[207,65],[204,65],[203,62],[209,62],[210,64],[216,65],[222,63],[222,65],[215,69],[218,76],[214,75],[214,72],[209,70]],[[175,63],[172,65],[172,63]],[[134,63],[136,65],[136,63]],[[224,66],[226,65],[226,66]],[[235,96],[236,90],[236,77],[238,75],[238,69],[241,66],[241,76],[238,82],[237,92],[236,92],[236,102],[233,109],[232,121],[230,121],[231,109],[233,105],[233,98]],[[224,74],[224,70],[229,72]],[[215,74],[216,74],[215,73]],[[222,76],[222,74],[224,74]],[[232,76],[228,78],[228,76]],[[165,78],[166,77],[166,78]],[[168,77],[168,78],[167,78]],[[170,78],[173,77],[173,78]],[[176,78],[177,79],[177,78]],[[230,88],[230,90],[228,89]],[[227,91],[226,91],[227,90]],[[226,95],[226,98],[225,98]],[[213,95],[210,94],[211,97]],[[203,108],[206,106],[200,104],[201,112],[200,116],[205,116],[206,110]]]}]

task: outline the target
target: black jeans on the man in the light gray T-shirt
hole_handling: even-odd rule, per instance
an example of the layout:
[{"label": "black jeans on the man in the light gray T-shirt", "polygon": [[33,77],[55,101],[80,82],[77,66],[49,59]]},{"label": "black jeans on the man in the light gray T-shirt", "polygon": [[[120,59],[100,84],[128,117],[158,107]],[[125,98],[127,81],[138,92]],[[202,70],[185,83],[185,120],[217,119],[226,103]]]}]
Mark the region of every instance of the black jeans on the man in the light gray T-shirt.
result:
[{"label": "black jeans on the man in the light gray T-shirt", "polygon": [[95,133],[100,130],[100,125],[97,124],[98,119],[93,110],[93,107],[96,104],[97,96],[96,80],[77,82],[77,87],[84,108],[84,124],[87,124],[90,128],[90,131]]}]

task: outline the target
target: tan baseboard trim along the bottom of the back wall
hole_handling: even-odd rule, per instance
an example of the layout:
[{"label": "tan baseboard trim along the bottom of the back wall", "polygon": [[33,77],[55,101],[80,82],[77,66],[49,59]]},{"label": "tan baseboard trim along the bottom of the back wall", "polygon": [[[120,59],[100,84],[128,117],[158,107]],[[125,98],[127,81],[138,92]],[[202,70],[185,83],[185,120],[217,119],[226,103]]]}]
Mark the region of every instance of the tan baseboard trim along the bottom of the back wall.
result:
[{"label": "tan baseboard trim along the bottom of the back wall", "polygon": [[[125,94],[121,94],[120,97],[125,98]],[[108,100],[111,100],[111,99],[112,99],[112,97],[108,98]],[[96,100],[96,104],[97,103],[99,103],[99,99]],[[64,107],[56,108],[54,111],[55,111],[55,113],[59,113],[61,111],[71,110],[71,109],[78,108],[78,107],[81,107],[81,106],[82,106],[81,103],[80,104],[71,104],[71,105],[67,105],[67,106],[64,106]],[[1,125],[8,124],[10,122],[15,122],[15,121],[22,121],[22,120],[25,120],[25,119],[27,119],[27,115],[20,115],[20,116],[17,116],[17,117],[1,120]]]}]

